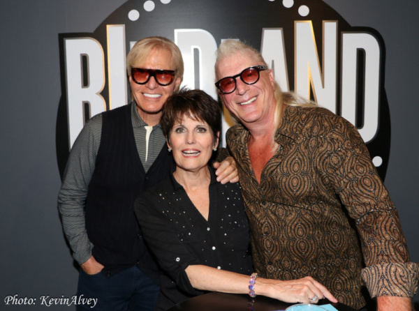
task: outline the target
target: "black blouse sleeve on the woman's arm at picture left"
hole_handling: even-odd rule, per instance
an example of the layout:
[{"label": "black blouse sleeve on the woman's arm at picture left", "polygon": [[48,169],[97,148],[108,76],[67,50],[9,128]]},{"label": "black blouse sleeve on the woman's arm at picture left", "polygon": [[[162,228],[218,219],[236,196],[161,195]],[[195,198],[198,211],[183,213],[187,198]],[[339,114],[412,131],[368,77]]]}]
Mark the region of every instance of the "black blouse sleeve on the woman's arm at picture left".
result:
[{"label": "black blouse sleeve on the woman's arm at picture left", "polygon": [[144,192],[135,200],[135,215],[141,227],[142,236],[156,257],[160,268],[185,294],[197,296],[202,291],[194,289],[185,269],[191,264],[201,264],[179,240],[170,224],[170,218],[162,210],[166,202],[156,198],[154,192]]}]

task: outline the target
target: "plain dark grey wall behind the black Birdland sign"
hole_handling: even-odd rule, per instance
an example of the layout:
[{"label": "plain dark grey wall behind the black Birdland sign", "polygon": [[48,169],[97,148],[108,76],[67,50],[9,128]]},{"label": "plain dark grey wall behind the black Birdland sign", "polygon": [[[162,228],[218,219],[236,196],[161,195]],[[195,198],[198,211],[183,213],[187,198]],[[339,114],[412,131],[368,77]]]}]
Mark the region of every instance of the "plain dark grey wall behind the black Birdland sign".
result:
[{"label": "plain dark grey wall behind the black Birdland sign", "polygon": [[[176,0],[172,0],[176,1]],[[78,271],[61,230],[55,146],[61,96],[58,33],[93,32],[125,0],[0,1],[0,310],[45,310],[75,294]],[[385,43],[391,148],[385,185],[412,261],[419,261],[419,2],[325,0]],[[36,298],[5,305],[4,298]],[[416,296],[419,301],[419,296]],[[48,310],[73,310],[57,306]]]}]

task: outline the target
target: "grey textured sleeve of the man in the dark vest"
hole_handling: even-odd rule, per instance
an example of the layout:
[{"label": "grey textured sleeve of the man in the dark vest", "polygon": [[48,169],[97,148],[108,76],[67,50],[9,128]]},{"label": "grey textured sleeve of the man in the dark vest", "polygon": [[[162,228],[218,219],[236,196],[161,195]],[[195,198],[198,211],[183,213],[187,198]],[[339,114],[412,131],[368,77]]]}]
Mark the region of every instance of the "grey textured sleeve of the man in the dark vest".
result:
[{"label": "grey textured sleeve of the man in the dark vest", "polygon": [[[79,264],[87,263],[91,258],[93,248],[87,237],[84,203],[94,172],[101,140],[101,128],[101,115],[98,115],[92,118],[80,132],[68,157],[58,195],[58,208],[64,234],[73,250],[73,257]],[[91,269],[88,270],[91,271]]]}]

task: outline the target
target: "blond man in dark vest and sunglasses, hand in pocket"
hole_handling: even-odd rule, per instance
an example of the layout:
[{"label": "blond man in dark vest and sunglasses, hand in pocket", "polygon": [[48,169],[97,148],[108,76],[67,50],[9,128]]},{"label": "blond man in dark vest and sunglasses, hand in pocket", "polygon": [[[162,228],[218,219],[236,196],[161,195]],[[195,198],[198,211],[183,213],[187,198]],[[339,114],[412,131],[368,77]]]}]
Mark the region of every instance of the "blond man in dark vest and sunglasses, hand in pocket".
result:
[{"label": "blond man in dark vest and sunglasses, hand in pocket", "polygon": [[[127,70],[132,103],[86,123],[68,158],[58,202],[80,264],[78,295],[98,298],[95,310],[151,311],[159,272],[133,202],[173,165],[159,122],[164,103],[182,82],[182,54],[166,38],[145,38],[129,52]],[[237,179],[231,158],[217,172],[223,183]]]}]

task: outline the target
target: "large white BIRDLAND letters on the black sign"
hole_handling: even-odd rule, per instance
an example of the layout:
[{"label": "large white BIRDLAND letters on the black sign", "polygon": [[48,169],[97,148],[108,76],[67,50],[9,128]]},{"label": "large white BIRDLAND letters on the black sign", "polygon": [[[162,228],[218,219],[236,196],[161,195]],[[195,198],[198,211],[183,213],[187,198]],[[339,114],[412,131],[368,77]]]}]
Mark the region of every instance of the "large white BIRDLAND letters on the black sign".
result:
[{"label": "large white BIRDLAND letters on the black sign", "polygon": [[[108,76],[110,107],[127,103],[125,26],[108,25]],[[203,29],[175,29],[175,43],[184,58],[182,86],[202,89],[217,98],[214,86],[214,37]],[[134,43],[131,42],[131,47]],[[360,134],[365,142],[378,130],[380,57],[378,40],[369,33],[341,35],[341,115],[356,124],[358,51],[365,52],[364,124]],[[65,67],[70,147],[84,120],[105,111],[101,96],[105,85],[103,47],[94,38],[65,38]],[[263,29],[260,51],[272,68],[281,89],[290,89],[283,29]],[[337,22],[323,21],[322,66],[311,21],[295,22],[295,86],[301,96],[310,93],[323,107],[337,111]],[[83,61],[84,60],[84,61]],[[84,116],[84,103],[90,115]],[[234,124],[228,114],[223,119],[223,134]],[[9,297],[9,296],[8,296]]]}]

